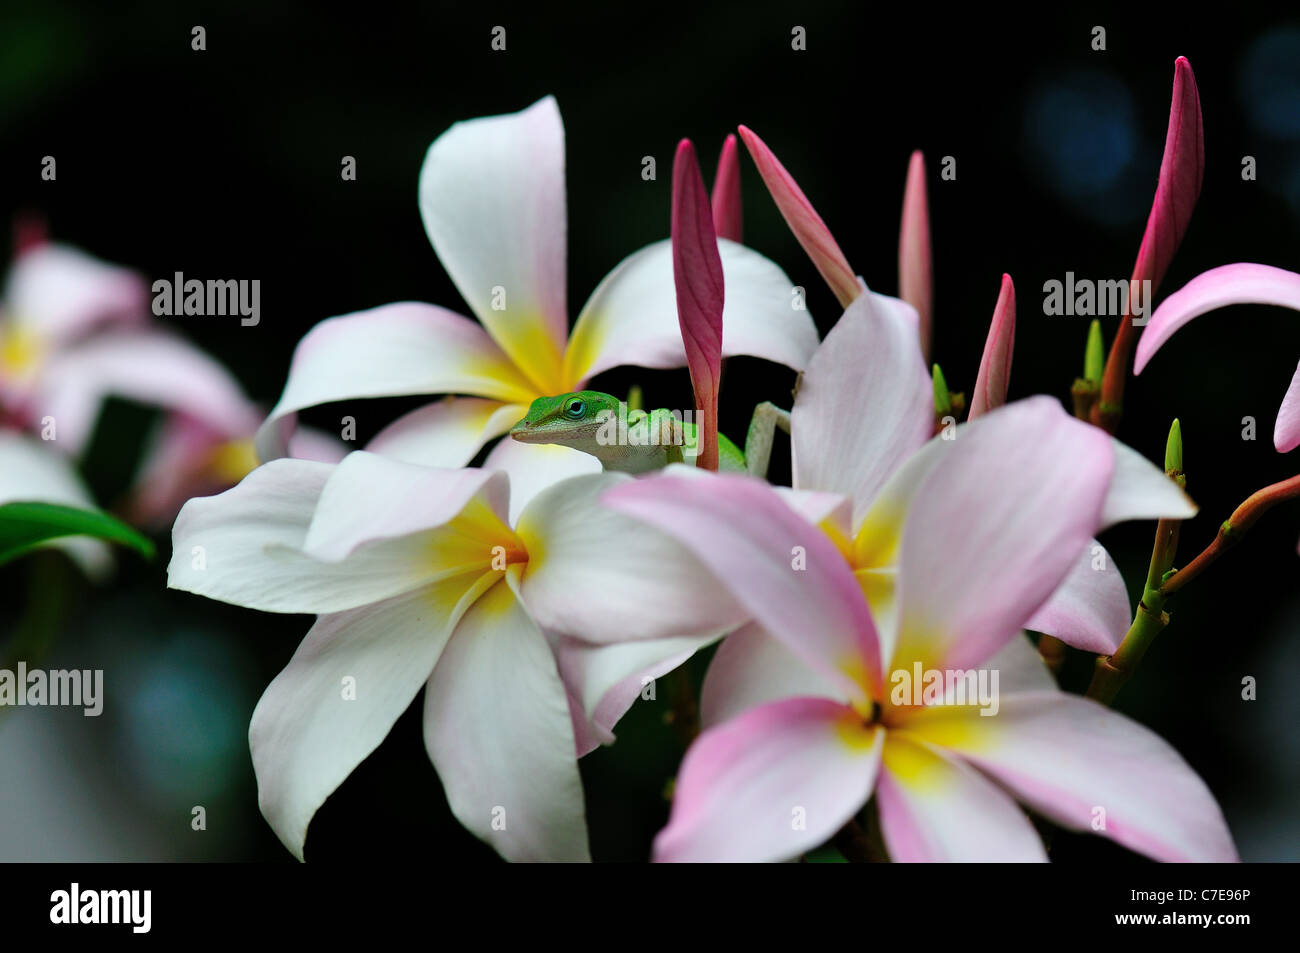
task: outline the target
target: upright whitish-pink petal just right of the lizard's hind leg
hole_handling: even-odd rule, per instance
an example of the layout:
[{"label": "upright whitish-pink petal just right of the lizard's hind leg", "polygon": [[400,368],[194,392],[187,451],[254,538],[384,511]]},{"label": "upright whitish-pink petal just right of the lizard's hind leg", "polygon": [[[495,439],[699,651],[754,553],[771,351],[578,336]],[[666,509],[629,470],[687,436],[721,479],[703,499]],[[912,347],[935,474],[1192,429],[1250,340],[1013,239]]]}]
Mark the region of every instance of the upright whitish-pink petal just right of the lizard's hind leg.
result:
[{"label": "upright whitish-pink petal just right of the lizard's hind leg", "polygon": [[935,426],[933,387],[915,329],[863,295],[812,355],[790,419],[794,485],[872,498]]}]

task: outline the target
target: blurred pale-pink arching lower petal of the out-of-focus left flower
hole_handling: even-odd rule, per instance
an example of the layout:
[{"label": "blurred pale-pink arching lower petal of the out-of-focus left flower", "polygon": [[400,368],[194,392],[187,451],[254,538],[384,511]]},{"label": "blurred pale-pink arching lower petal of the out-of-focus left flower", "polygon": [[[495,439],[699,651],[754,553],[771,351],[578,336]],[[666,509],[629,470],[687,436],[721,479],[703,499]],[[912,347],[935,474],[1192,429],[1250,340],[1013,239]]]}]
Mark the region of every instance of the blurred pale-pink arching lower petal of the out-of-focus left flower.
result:
[{"label": "blurred pale-pink arching lower petal of the out-of-focus left flower", "polygon": [[187,341],[160,332],[116,330],[60,351],[46,368],[39,416],[79,454],[108,397],[187,413],[229,437],[247,437],[261,417],[224,367]]}]

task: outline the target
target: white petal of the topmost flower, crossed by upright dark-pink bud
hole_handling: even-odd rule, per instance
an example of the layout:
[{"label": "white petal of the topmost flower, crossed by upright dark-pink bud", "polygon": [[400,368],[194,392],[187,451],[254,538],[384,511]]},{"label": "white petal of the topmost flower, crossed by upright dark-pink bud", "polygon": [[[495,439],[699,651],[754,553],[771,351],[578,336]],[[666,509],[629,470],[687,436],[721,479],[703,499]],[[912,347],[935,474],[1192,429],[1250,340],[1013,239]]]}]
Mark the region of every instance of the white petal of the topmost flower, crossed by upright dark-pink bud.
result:
[{"label": "white petal of the topmost flower, crossed by upright dark-pink bud", "polygon": [[[794,282],[768,259],[722,239],[727,303],[723,354],[749,355],[802,371],[816,350],[816,326],[794,299]],[[566,377],[585,381],[634,364],[676,368],[686,363],[672,280],[672,243],[655,242],[629,255],[597,286],[573,325]]]}]

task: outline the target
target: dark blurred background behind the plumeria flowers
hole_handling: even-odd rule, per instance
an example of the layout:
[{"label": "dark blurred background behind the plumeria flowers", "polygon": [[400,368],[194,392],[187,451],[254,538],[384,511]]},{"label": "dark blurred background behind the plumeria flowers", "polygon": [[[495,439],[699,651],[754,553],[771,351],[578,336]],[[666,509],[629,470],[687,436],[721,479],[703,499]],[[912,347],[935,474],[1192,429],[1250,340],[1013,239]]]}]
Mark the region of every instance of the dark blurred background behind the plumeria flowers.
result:
[{"label": "dark blurred background behind the plumeria flowers", "polygon": [[[261,281],[261,322],[161,319],[233,369],[269,407],[296,341],[317,321],[394,300],[468,313],[424,235],[416,177],[451,122],[555,94],[568,138],[569,307],[621,257],[668,234],[672,150],[694,139],[712,173],[744,122],[780,156],[845,255],[896,293],[907,156],[926,151],[935,257],[935,346],[954,390],[974,384],[1002,272],[1015,281],[1011,397],[1069,403],[1087,317],[1044,316],[1066,272],[1127,278],[1156,186],[1174,59],[1191,60],[1205,124],[1205,183],[1162,286],[1230,261],[1300,268],[1300,16],[1235,4],[1214,20],[1135,4],[1075,16],[937,12],[928,5],[490,4],[419,7],[6,4],[0,12],[0,222],[43,215],[52,238],[150,281],[182,270]],[[207,49],[191,49],[191,29]],[[506,52],[490,49],[507,29]],[[1092,27],[1106,49],[1091,48]],[[803,26],[807,49],[792,51]],[[57,157],[55,182],[40,178]],[[656,181],[641,178],[655,156]],[[341,159],[355,156],[356,181]],[[954,181],[940,181],[942,156]],[[1243,181],[1244,156],[1257,179]],[[748,157],[745,239],[807,287],[824,334],[835,299],[785,230]],[[1115,319],[1106,322],[1109,343]],[[1300,317],[1235,308],[1196,322],[1130,382],[1121,437],[1160,460],[1180,417],[1188,490],[1183,560],[1254,489],[1291,476],[1273,420],[1300,356]],[[686,406],[685,372],[614,372],[649,406]],[[755,400],[789,404],[793,374],[729,361],[722,426],[742,437]],[[351,404],[360,441],[419,400]],[[870,408],[866,410],[870,413]],[[304,415],[337,432],[339,408]],[[1257,438],[1242,438],[1243,417]],[[84,464],[112,507],[156,415],[110,403]],[[784,445],[781,445],[784,446]],[[774,472],[788,478],[788,467]],[[1153,527],[1104,542],[1134,597]],[[1300,506],[1270,514],[1239,550],[1174,601],[1173,624],[1117,707],[1167,738],[1218,797],[1243,857],[1300,855]],[[104,668],[103,716],[0,711],[0,859],[289,861],[263,822],[248,758],[257,697],[309,627],[168,592],[169,543],[152,564],[122,554],[91,586],[47,554],[0,572],[0,638],[38,572],[62,573],[49,667]],[[698,680],[706,658],[697,658]],[[1065,684],[1082,690],[1088,662]],[[1242,699],[1242,679],[1258,683]],[[582,762],[597,859],[645,859],[667,816],[681,749],[668,693],[638,702],[620,742]],[[495,862],[451,818],[420,737],[420,702],[312,823],[315,861]],[[191,829],[191,809],[207,829]],[[1061,861],[1136,862],[1092,837],[1060,837]]]}]

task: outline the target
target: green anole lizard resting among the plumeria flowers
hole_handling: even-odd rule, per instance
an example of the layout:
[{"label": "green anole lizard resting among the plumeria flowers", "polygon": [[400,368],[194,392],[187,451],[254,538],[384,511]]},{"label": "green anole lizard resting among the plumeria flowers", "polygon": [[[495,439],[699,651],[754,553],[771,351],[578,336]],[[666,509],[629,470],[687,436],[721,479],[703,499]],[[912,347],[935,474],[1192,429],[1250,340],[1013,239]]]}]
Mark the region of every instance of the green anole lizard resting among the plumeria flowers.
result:
[{"label": "green anole lizard resting among the plumeria flowers", "polygon": [[[718,468],[767,475],[772,436],[790,432],[789,411],[764,402],[754,408],[745,450],[718,434]],[[670,463],[694,464],[697,428],[675,411],[628,410],[628,404],[599,390],[540,397],[510,436],[521,443],[558,443],[581,450],[607,471],[644,473]]]}]

